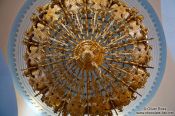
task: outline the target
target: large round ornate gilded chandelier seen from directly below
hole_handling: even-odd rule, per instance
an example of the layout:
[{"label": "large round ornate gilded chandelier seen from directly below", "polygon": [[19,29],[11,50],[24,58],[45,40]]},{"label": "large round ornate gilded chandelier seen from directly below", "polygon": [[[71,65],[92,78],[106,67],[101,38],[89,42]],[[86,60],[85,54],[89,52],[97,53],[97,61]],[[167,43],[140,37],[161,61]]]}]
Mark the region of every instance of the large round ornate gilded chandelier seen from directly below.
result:
[{"label": "large round ornate gilded chandelier seen from directly below", "polygon": [[120,0],[52,0],[26,32],[24,75],[58,115],[113,115],[147,82],[143,16]]}]

